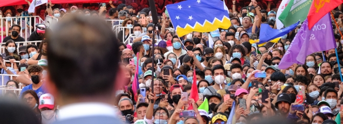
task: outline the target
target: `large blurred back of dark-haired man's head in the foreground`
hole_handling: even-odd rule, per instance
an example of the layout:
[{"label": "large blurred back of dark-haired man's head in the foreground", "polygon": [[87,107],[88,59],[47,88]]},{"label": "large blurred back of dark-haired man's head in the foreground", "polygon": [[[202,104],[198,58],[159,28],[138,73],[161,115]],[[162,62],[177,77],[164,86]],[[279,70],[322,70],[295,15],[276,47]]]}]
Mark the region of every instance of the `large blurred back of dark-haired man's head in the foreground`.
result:
[{"label": "large blurred back of dark-haired man's head in the foreground", "polygon": [[121,70],[112,29],[100,19],[73,15],[59,21],[54,32],[47,38],[49,84],[64,98],[110,96]]}]

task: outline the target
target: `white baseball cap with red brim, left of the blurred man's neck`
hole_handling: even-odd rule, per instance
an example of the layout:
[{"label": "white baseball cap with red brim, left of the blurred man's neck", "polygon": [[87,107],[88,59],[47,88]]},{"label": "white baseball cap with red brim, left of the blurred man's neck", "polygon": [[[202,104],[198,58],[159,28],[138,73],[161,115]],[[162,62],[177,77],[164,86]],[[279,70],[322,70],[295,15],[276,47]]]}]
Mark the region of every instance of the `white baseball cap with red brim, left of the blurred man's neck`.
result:
[{"label": "white baseball cap with red brim, left of the blurred man's neck", "polygon": [[47,93],[47,94],[43,94],[40,98],[39,98],[39,109],[42,109],[44,107],[47,107],[49,109],[53,109],[55,107],[55,99],[54,97]]}]

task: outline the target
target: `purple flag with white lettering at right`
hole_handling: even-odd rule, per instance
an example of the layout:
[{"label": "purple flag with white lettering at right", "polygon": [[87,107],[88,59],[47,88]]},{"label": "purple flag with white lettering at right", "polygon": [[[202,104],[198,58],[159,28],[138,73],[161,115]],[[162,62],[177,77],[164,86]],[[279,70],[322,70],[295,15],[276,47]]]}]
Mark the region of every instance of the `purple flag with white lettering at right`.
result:
[{"label": "purple flag with white lettering at right", "polygon": [[329,14],[321,18],[311,30],[308,29],[308,20],[306,19],[281,59],[279,68],[286,69],[293,63],[304,64],[307,55],[336,47]]}]

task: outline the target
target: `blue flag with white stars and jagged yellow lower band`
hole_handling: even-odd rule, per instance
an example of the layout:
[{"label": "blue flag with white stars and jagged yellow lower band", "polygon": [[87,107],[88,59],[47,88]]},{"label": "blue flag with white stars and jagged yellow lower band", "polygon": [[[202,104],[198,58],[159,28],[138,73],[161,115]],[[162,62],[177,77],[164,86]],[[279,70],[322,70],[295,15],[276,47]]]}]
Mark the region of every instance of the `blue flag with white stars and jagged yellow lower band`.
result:
[{"label": "blue flag with white stars and jagged yellow lower band", "polygon": [[178,36],[193,31],[211,32],[231,25],[229,11],[221,0],[186,0],[166,6]]}]

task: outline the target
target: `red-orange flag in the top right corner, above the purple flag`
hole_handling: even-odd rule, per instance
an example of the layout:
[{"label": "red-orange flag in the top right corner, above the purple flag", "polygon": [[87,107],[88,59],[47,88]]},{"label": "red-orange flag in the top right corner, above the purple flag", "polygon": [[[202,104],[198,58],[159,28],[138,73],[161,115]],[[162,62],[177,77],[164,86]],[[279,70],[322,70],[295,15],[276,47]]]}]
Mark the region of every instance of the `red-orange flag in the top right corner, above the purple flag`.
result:
[{"label": "red-orange flag in the top right corner, above the purple flag", "polygon": [[343,0],[313,0],[307,19],[311,29],[325,14],[343,3]]}]

